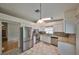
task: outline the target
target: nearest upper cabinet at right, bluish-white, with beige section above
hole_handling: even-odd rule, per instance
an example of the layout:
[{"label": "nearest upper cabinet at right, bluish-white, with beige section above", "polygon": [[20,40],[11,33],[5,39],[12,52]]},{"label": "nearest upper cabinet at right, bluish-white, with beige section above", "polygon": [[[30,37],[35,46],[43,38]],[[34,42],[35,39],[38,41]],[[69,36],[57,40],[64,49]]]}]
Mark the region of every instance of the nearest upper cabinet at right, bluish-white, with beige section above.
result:
[{"label": "nearest upper cabinet at right, bluish-white, with beige section above", "polygon": [[64,13],[64,32],[75,34],[76,9]]}]

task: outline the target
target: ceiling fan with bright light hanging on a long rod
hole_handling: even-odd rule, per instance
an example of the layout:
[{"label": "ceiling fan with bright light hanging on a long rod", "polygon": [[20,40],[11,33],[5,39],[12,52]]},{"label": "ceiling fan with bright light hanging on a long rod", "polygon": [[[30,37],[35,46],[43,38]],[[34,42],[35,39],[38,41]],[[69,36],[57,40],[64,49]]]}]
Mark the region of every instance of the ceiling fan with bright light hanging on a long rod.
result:
[{"label": "ceiling fan with bright light hanging on a long rod", "polygon": [[40,3],[40,9],[35,10],[36,13],[40,13],[40,19],[37,21],[37,23],[49,23],[49,22],[57,22],[62,21],[63,19],[53,19],[53,17],[49,18],[42,18],[42,4]]}]

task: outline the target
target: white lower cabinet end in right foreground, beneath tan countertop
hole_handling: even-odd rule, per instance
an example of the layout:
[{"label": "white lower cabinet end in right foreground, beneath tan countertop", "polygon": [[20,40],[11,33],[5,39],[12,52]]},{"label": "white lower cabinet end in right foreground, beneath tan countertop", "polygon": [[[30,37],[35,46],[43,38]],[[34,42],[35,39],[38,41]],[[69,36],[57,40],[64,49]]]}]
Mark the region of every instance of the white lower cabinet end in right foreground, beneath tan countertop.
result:
[{"label": "white lower cabinet end in right foreground, beneath tan countertop", "polygon": [[75,45],[65,42],[58,42],[58,51],[60,55],[75,55]]}]

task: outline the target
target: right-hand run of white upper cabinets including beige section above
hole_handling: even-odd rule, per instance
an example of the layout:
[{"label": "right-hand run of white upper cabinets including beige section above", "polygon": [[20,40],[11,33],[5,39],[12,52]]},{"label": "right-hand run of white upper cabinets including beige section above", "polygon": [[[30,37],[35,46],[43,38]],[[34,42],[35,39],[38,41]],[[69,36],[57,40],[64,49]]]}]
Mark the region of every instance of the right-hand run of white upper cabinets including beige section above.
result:
[{"label": "right-hand run of white upper cabinets including beige section above", "polygon": [[54,25],[54,32],[64,32],[75,34],[76,10],[69,10],[64,12],[64,19],[57,21]]}]

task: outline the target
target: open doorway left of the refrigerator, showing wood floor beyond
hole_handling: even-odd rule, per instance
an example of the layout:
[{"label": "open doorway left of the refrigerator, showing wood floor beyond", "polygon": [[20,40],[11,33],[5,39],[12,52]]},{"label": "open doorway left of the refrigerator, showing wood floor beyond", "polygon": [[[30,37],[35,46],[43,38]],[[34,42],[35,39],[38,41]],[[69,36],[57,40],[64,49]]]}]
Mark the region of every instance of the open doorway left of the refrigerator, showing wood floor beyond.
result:
[{"label": "open doorway left of the refrigerator, showing wood floor beyond", "polygon": [[2,21],[2,54],[11,54],[19,46],[20,24],[11,21]]}]

